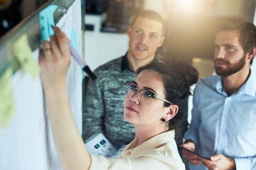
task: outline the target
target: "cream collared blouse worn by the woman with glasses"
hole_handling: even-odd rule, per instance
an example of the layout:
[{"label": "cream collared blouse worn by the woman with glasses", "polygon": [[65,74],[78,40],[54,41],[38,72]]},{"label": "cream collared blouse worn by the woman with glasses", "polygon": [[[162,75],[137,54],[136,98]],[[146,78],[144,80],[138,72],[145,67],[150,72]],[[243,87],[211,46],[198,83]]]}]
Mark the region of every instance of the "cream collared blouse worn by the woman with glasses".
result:
[{"label": "cream collared blouse worn by the woman with glasses", "polygon": [[117,159],[91,155],[90,170],[184,170],[185,166],[178,154],[174,140],[174,130],[161,133],[138,147],[127,145]]}]

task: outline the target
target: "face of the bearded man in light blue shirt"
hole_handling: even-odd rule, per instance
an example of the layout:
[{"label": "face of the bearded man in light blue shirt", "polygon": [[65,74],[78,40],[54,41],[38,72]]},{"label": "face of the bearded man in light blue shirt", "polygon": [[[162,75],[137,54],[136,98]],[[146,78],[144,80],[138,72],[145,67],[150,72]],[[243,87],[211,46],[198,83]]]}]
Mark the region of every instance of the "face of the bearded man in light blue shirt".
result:
[{"label": "face of the bearded man in light blue shirt", "polygon": [[238,30],[221,30],[215,37],[215,72],[223,77],[239,72],[246,61]]}]

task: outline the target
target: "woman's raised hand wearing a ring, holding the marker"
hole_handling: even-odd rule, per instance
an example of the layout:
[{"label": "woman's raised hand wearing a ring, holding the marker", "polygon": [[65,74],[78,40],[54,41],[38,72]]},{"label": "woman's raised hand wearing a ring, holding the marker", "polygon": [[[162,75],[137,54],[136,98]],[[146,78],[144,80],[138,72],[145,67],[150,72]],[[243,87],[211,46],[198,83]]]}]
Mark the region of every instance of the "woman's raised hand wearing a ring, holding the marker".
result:
[{"label": "woman's raised hand wearing a ring, holding the marker", "polygon": [[55,35],[50,36],[50,42],[43,42],[39,56],[41,80],[45,91],[56,91],[66,86],[70,65],[68,39],[60,28],[54,26],[53,30]]}]

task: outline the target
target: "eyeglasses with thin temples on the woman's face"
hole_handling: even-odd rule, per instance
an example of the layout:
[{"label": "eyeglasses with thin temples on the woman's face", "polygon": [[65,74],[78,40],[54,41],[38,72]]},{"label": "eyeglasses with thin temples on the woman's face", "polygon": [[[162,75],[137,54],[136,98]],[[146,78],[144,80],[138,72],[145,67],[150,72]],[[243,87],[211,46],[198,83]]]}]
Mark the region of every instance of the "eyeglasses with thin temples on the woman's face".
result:
[{"label": "eyeglasses with thin temples on the woman's face", "polygon": [[147,89],[142,89],[142,90],[137,89],[137,87],[134,86],[134,84],[132,84],[132,82],[130,81],[125,82],[124,91],[128,97],[134,96],[134,94],[136,94],[136,92],[139,91],[138,93],[139,103],[142,103],[143,105],[149,104],[153,98],[158,98],[161,101],[165,101],[166,103],[173,104],[167,101],[166,99],[161,98],[160,96],[157,96],[156,94],[154,94],[153,92]]}]

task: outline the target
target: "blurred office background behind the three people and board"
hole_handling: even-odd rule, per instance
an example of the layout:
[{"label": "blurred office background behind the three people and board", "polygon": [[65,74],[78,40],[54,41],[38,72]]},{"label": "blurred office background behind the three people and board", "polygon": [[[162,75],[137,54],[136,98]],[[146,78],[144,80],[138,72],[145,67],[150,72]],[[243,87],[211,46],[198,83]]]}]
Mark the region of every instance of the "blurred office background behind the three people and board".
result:
[{"label": "blurred office background behind the three people and board", "polygon": [[[0,0],[0,36],[46,2]],[[255,4],[255,0],[85,0],[83,57],[94,70],[124,55],[128,50],[129,23],[136,13],[149,9],[161,13],[166,21],[166,39],[157,55],[190,62],[200,78],[208,77],[215,74],[215,24],[220,18],[245,18],[256,23]],[[252,69],[256,69],[255,62]],[[188,102],[190,122],[192,98]]]}]

